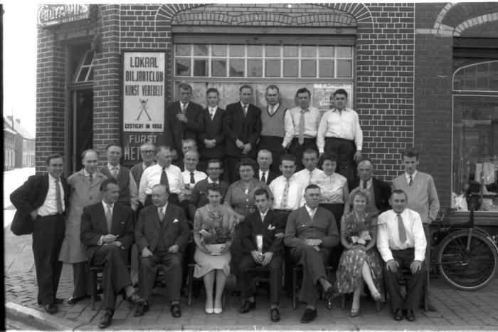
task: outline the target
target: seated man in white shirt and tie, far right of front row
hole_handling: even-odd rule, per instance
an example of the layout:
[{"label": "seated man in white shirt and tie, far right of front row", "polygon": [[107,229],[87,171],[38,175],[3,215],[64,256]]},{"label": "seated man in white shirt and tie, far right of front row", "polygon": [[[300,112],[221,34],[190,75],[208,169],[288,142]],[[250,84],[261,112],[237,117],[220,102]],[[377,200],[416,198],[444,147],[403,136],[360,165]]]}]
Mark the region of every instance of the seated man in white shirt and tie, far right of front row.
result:
[{"label": "seated man in white shirt and tie, far right of front row", "polygon": [[[420,214],[406,208],[406,193],[403,190],[393,190],[389,204],[393,209],[378,216],[377,249],[386,261],[384,279],[394,320],[401,321],[406,316],[407,321],[415,321],[413,310],[418,307],[422,294],[427,242]],[[403,299],[397,272],[408,267],[412,276]]]}]

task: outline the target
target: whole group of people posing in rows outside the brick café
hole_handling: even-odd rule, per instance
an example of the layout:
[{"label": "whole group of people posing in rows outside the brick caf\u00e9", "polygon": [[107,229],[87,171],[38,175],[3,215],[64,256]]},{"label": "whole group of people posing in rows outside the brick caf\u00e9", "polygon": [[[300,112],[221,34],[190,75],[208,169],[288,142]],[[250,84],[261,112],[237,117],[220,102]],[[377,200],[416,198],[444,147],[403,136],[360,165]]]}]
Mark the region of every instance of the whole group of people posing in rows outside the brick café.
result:
[{"label": "whole group of people posing in rows outside the brick caf\u00e9", "polygon": [[[56,294],[65,262],[73,264],[69,304],[92,291],[88,267],[104,267],[100,328],[110,326],[117,294],[136,304],[135,316],[149,310],[159,266],[171,314],[180,317],[185,266],[193,259],[208,314],[223,311],[230,274],[243,298],[239,312],[253,310],[252,271],[265,266],[270,320],[279,321],[282,286],[292,294],[292,268],[302,266],[302,323],[317,316],[319,289],[327,301],[353,293],[354,317],[364,285],[374,301],[383,299],[383,279],[393,318],[415,320],[429,261],[428,224],[439,209],[433,178],[416,170],[418,152],[402,152],[406,172],[391,192],[372,176],[372,160],[361,157],[358,116],[344,108],[344,90],[334,93],[335,107],[322,117],[309,106],[306,89],[297,91],[299,106],[285,110],[270,85],[263,113],[249,103],[248,85],[227,110],[217,107],[216,89],[208,89],[204,110],[189,101],[189,85],[181,84],[179,95],[166,110],[171,127],[161,139],[168,145],[144,143],[142,162],[131,170],[120,165],[116,143],[107,146],[103,167],[97,152],[85,150],[83,169],[67,180],[63,157],[48,155],[48,174],[30,177],[11,194],[17,209],[11,229],[33,234],[38,303],[48,313],[62,301]],[[355,160],[358,177],[351,175]],[[133,244],[138,291],[127,270]],[[404,297],[397,282],[403,268],[413,274]]]}]

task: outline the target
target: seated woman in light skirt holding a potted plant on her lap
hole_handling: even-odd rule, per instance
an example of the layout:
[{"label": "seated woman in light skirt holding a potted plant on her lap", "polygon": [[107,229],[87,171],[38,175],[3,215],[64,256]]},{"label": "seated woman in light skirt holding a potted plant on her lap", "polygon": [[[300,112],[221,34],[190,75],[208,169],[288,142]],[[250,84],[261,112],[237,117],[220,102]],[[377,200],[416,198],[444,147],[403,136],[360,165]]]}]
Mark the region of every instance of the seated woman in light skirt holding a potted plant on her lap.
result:
[{"label": "seated woman in light skirt holding a potted plant on her lap", "polygon": [[[196,253],[194,277],[204,279],[206,287],[206,313],[221,313],[221,297],[226,279],[230,275],[230,248],[233,240],[235,216],[221,202],[221,187],[208,185],[209,203],[196,211],[194,241]],[[216,279],[216,296],[213,306],[213,286]]]}]

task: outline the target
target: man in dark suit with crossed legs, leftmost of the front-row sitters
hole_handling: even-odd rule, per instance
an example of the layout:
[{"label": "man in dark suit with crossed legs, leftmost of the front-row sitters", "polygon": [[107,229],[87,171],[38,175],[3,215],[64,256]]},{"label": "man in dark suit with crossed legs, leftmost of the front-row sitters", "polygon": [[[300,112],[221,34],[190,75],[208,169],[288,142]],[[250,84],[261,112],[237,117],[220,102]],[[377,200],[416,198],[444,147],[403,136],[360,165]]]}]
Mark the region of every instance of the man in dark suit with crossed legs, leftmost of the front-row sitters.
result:
[{"label": "man in dark suit with crossed legs, leftmost of the front-row sitters", "polygon": [[132,249],[134,212],[117,203],[120,186],[114,178],[100,184],[102,202],[83,207],[80,240],[87,247],[90,265],[104,266],[102,289],[104,313],[99,328],[110,326],[116,306],[117,293],[124,290],[128,301],[142,301],[135,293],[126,267],[128,252]]}]

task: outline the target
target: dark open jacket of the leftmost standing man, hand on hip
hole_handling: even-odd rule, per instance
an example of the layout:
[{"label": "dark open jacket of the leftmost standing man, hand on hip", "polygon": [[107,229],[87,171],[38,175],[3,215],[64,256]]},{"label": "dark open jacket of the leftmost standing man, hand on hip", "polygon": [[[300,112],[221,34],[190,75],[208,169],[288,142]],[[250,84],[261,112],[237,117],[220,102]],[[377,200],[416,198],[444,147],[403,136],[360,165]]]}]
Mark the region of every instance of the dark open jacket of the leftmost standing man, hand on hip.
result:
[{"label": "dark open jacket of the leftmost standing man, hand on hip", "polygon": [[[69,207],[71,186],[65,177],[60,177],[64,190],[65,211]],[[44,175],[31,175],[21,187],[11,193],[11,202],[16,207],[16,213],[11,224],[11,231],[16,235],[33,233],[33,219],[30,213],[38,209],[45,202],[48,193],[48,173]]]}]

